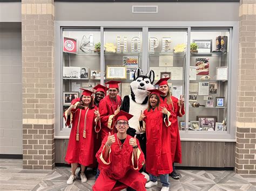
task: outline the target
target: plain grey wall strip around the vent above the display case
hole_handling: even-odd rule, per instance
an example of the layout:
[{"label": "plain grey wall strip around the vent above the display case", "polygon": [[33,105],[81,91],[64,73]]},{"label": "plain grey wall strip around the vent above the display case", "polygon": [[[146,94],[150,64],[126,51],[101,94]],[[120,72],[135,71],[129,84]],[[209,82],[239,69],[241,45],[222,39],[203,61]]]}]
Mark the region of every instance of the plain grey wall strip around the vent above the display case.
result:
[{"label": "plain grey wall strip around the vent above the display case", "polygon": [[[158,13],[132,13],[132,5],[158,5]],[[55,2],[55,20],[238,21],[239,2]]]}]

